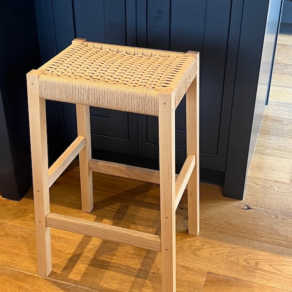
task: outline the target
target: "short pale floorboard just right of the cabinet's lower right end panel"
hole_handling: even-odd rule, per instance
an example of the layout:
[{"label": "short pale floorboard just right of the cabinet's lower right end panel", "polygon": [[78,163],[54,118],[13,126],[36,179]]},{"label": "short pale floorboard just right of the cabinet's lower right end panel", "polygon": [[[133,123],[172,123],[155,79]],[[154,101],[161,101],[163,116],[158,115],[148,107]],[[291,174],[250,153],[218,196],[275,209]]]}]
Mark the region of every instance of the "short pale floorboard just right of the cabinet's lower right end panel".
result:
[{"label": "short pale floorboard just right of the cabinet's lower right end panel", "polygon": [[291,163],[291,159],[254,153],[248,176],[289,183]]}]

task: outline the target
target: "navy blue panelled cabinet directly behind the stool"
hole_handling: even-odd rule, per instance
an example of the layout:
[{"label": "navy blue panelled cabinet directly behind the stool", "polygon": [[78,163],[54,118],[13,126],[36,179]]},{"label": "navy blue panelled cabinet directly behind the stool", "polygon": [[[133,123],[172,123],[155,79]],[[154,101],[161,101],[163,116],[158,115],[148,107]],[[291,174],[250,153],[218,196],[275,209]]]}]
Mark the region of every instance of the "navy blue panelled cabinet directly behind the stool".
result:
[{"label": "navy blue panelled cabinet directly behind the stool", "polygon": [[[165,50],[200,51],[201,179],[223,184],[226,178],[230,181],[232,177],[238,186],[237,194],[228,192],[228,196],[242,198],[269,0],[260,3],[254,0],[35,0],[35,6],[42,62],[67,47],[75,37]],[[235,116],[233,113],[241,110],[237,105],[243,104],[244,110],[242,98],[246,96],[246,114]],[[75,110],[73,105],[50,101],[47,108],[53,161],[76,136]],[[232,135],[231,121],[237,121]],[[241,127],[245,123],[246,128]],[[91,109],[91,132],[93,157],[158,166],[157,118]],[[176,111],[178,168],[186,155],[185,144],[183,99]],[[237,153],[242,158],[238,183],[230,176],[237,165],[226,167],[227,161],[233,161],[228,159],[229,153]]]}]

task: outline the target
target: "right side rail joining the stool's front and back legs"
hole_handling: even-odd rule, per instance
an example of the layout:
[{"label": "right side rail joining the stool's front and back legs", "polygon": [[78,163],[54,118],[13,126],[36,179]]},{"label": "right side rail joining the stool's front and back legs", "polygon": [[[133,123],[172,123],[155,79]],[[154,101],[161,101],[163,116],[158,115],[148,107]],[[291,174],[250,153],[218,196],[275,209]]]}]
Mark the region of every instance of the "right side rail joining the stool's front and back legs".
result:
[{"label": "right side rail joining the stool's front and back legs", "polygon": [[189,178],[193,172],[195,164],[196,164],[195,155],[191,154],[188,155],[183,164],[182,170],[175,182],[175,209],[178,208],[178,205],[183,196],[183,192],[186,188],[186,184],[189,181]]}]

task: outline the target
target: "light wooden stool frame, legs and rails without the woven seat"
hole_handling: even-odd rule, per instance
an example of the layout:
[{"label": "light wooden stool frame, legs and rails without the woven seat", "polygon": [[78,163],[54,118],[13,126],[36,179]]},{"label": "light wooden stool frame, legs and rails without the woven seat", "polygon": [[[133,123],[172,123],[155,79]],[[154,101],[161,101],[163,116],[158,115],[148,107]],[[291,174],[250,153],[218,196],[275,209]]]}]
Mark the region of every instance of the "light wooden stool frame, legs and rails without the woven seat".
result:
[{"label": "light wooden stool frame, legs and rails without the woven seat", "polygon": [[[82,104],[76,104],[77,138],[49,168],[46,100],[39,97],[38,90],[38,78],[42,71],[32,70],[27,74],[39,275],[46,277],[52,271],[50,228],[53,227],[162,252],[163,292],[176,291],[175,213],[186,186],[188,196],[188,233],[190,235],[198,235],[200,218],[200,63],[198,52],[190,51],[187,54],[195,55],[197,59],[197,74],[186,91],[187,158],[179,175],[175,174],[175,101],[173,89],[164,88],[159,93],[159,171],[92,159],[90,107]],[[50,213],[49,187],[78,154],[83,211],[91,212],[93,209],[92,171],[159,183],[161,236]]]}]

